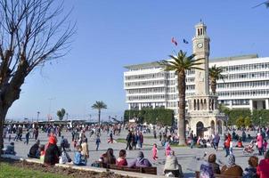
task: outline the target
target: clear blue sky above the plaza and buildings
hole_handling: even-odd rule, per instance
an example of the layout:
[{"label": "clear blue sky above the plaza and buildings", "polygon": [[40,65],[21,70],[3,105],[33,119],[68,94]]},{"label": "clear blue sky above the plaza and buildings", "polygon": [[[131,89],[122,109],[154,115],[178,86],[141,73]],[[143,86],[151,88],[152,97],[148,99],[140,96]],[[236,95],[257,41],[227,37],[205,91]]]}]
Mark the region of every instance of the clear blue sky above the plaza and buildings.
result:
[{"label": "clear blue sky above the plaza and buildings", "polygon": [[64,108],[69,117],[96,119],[94,101],[108,105],[102,119],[120,118],[127,108],[123,66],[167,59],[173,50],[192,53],[192,43],[181,40],[192,42],[200,19],[208,26],[211,58],[269,56],[269,9],[251,8],[263,1],[66,0],[65,9],[73,8],[70,19],[77,21],[72,49],[29,75],[7,118],[37,119],[37,111],[41,119],[49,112],[55,118]]}]

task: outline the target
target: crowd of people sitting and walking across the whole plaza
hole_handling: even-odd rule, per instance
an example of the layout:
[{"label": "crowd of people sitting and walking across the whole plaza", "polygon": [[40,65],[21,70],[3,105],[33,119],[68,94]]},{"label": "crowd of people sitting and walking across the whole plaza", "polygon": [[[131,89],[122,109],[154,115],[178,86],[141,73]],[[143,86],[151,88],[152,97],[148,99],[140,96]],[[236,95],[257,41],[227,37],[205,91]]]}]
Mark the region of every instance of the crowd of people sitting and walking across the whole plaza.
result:
[{"label": "crowd of people sitting and walking across the whole plaza", "polygon": [[[90,152],[88,149],[88,139],[94,137],[94,142],[96,144],[96,150],[99,150],[99,145],[101,143],[101,134],[107,134],[108,140],[107,143],[114,143],[114,135],[119,135],[122,128],[126,128],[128,133],[126,135],[126,148],[125,150],[118,151],[118,157],[114,154],[113,149],[108,149],[105,153],[101,155],[97,162],[105,165],[116,165],[116,166],[127,166],[127,167],[151,167],[152,164],[150,159],[145,158],[143,154],[143,133],[151,133],[151,129],[147,127],[143,128],[142,125],[87,125],[81,126],[77,125],[73,128],[65,128],[71,134],[71,142],[74,147],[74,158],[69,157],[68,150],[70,150],[70,144],[68,139],[61,134],[61,126],[54,125],[45,125],[41,128],[48,135],[48,142],[46,144],[41,144],[38,140],[38,126],[34,125],[32,130],[33,134],[30,134],[30,128],[25,128],[25,137],[23,138],[22,126],[9,126],[5,130],[5,137],[8,134],[15,134],[13,139],[14,142],[23,142],[22,139],[25,139],[24,143],[29,144],[29,138],[34,139],[36,142],[29,149],[29,158],[39,158],[44,161],[45,165],[53,166],[55,164],[72,164],[75,166],[96,166],[94,163],[88,163],[88,158],[90,158]],[[157,129],[153,127],[153,138],[157,138]],[[89,134],[86,134],[88,132]],[[31,136],[32,135],[32,136]],[[86,136],[87,135],[87,136]],[[224,135],[224,152],[225,157],[227,158],[227,164],[218,164],[216,163],[216,154],[210,154],[207,157],[204,157],[202,164],[200,164],[200,177],[215,177],[215,174],[224,174],[231,176],[243,176],[243,177],[269,177],[269,151],[266,150],[267,142],[265,129],[257,130],[257,137],[253,138],[249,145],[251,149],[254,150],[254,147],[257,146],[258,154],[265,155],[265,158],[258,162],[256,156],[249,157],[249,166],[243,169],[241,166],[236,165],[235,155],[233,154],[232,145],[235,140],[236,147],[243,148],[244,150],[249,149],[250,146],[243,146],[243,141],[245,142],[247,137],[245,132],[242,132],[240,137],[238,134],[226,134]],[[60,138],[60,142],[58,139]],[[159,160],[159,149],[158,147],[163,147],[164,155],[166,156],[166,161],[164,163],[163,173],[167,176],[183,177],[182,166],[179,164],[176,156],[175,150],[172,150],[170,144],[176,142],[178,137],[176,136],[175,130],[167,127],[159,128],[159,144],[153,143],[152,145],[152,154],[151,158],[153,161]],[[11,141],[11,139],[9,139]],[[208,139],[205,139],[201,136],[193,135],[193,132],[190,132],[189,143],[191,149],[195,144],[199,145],[202,148],[211,146],[216,151],[219,150],[219,142],[221,138],[218,134],[211,135]],[[14,142],[10,142],[4,149],[5,154],[15,155]],[[58,144],[57,144],[58,143]],[[134,160],[126,159],[126,150],[138,150],[137,156]],[[161,149],[162,150],[162,149]],[[147,155],[149,157],[149,155]],[[183,163],[182,163],[183,164]],[[220,166],[222,165],[222,166]],[[99,165],[100,166],[100,165]]]}]

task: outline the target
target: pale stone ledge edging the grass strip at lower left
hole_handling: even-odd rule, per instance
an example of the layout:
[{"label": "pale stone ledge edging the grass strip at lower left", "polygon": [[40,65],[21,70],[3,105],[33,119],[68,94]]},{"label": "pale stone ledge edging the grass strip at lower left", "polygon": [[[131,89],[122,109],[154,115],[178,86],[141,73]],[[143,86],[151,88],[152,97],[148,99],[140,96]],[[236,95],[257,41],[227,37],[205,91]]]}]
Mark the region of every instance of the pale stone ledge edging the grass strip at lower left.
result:
[{"label": "pale stone ledge edging the grass strip at lower left", "polygon": [[[2,158],[12,158],[12,159],[21,160],[21,161],[24,160],[24,161],[27,161],[29,163],[43,164],[43,162],[41,162],[37,158],[20,158],[18,156],[14,156],[14,155],[1,155],[1,157]],[[77,169],[77,170],[82,170],[82,171],[92,171],[92,172],[98,172],[98,173],[107,172],[107,170],[108,170],[108,169],[100,168],[100,167],[73,166],[73,165],[68,165],[68,164],[66,164],[66,165],[56,164],[55,166],[60,166],[60,167],[65,167],[65,168],[72,168],[72,169]],[[123,176],[132,176],[132,177],[137,177],[137,178],[143,178],[143,177],[160,178],[160,177],[164,177],[164,176],[160,176],[160,175],[141,174],[141,173],[134,173],[134,172],[118,171],[118,170],[113,170],[113,169],[110,169],[110,172],[112,172],[114,174],[120,174],[120,175],[123,175]]]}]

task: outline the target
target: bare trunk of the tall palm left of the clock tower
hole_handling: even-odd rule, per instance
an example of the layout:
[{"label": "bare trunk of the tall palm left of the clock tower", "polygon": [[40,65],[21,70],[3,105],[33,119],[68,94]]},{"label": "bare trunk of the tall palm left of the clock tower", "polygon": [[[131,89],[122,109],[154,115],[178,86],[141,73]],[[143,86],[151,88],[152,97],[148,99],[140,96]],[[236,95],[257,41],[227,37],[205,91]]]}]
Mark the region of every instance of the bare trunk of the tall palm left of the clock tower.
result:
[{"label": "bare trunk of the tall palm left of the clock tower", "polygon": [[177,75],[177,87],[178,87],[178,120],[177,120],[177,133],[179,136],[179,145],[186,144],[185,135],[185,73],[180,72]]}]

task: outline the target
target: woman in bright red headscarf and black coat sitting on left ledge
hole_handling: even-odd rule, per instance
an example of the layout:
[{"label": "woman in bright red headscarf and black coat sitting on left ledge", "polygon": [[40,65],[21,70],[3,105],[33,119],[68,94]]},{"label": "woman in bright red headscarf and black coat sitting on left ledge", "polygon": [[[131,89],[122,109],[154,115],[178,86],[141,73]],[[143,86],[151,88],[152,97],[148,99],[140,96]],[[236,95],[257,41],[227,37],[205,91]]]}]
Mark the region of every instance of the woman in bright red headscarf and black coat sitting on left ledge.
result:
[{"label": "woman in bright red headscarf and black coat sitting on left ledge", "polygon": [[55,135],[49,137],[49,142],[45,145],[45,158],[44,163],[49,166],[53,166],[59,163],[59,157],[61,151],[57,146],[57,138]]}]

